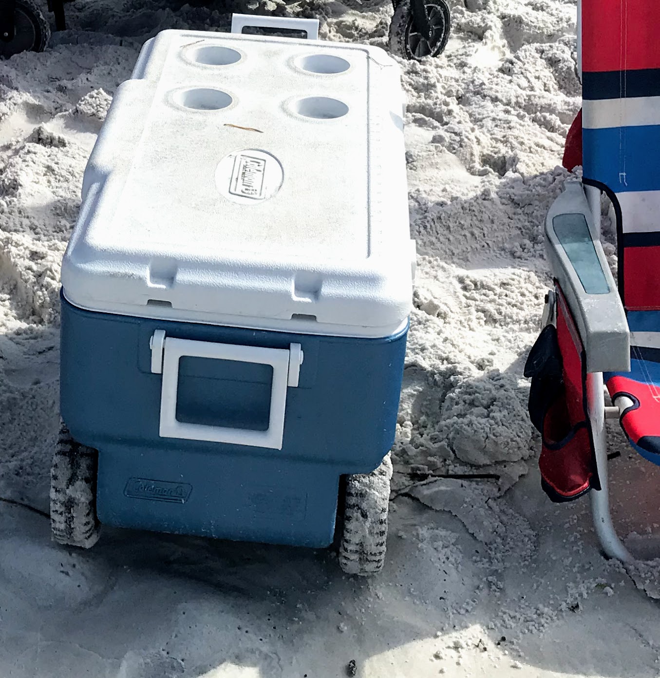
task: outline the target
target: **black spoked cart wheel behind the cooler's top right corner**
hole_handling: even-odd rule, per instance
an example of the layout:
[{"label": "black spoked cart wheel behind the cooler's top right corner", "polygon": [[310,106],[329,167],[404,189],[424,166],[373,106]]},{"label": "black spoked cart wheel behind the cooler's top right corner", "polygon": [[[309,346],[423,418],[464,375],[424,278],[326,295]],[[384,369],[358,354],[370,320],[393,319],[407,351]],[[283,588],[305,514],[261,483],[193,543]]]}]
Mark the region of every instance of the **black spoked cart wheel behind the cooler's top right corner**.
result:
[{"label": "black spoked cart wheel behind the cooler's top right corner", "polygon": [[410,0],[398,0],[390,24],[390,52],[405,59],[439,56],[449,40],[451,14],[445,0],[425,0],[431,37],[424,37],[415,26]]}]

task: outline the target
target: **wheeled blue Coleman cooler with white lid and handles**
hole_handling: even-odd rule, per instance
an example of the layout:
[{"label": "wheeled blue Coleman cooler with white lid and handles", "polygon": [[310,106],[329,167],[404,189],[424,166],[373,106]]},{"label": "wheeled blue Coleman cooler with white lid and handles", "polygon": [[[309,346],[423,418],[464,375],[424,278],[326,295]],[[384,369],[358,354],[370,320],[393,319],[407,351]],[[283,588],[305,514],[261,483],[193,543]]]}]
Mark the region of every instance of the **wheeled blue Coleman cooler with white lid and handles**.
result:
[{"label": "wheeled blue Coleman cooler with white lid and handles", "polygon": [[339,530],[369,574],[415,269],[399,68],[315,22],[250,23],[269,21],[147,41],[91,153],[62,262],[53,534]]}]

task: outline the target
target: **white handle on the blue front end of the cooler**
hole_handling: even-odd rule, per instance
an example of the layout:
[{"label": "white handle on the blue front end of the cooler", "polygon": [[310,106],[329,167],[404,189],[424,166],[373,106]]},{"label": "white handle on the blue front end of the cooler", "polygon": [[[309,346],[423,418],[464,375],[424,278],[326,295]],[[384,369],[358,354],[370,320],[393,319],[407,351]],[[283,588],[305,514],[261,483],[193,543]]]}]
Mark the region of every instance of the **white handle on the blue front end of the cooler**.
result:
[{"label": "white handle on the blue front end of the cooler", "polygon": [[[288,349],[215,344],[206,341],[165,338],[163,330],[156,330],[150,340],[150,346],[151,371],[154,373],[162,372],[163,374],[161,437],[270,447],[273,450],[282,449],[284,416],[287,407],[287,386],[298,385],[298,374],[303,359],[300,344],[291,344]],[[266,431],[250,431],[244,428],[207,426],[178,421],[176,418],[176,400],[179,387],[179,361],[183,356],[270,365],[272,367],[272,388],[270,390],[268,429]]]}]

